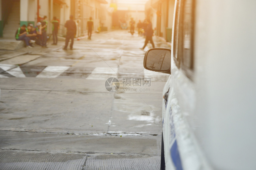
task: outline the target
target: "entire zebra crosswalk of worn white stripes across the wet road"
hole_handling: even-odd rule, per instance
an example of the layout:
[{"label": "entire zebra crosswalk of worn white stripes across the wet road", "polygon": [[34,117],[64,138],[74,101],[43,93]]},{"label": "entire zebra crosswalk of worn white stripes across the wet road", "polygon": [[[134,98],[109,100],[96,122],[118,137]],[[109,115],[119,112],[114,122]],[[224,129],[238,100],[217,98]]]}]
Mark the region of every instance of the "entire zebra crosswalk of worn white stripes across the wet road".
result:
[{"label": "entire zebra crosswalk of worn white stripes across the wet road", "polygon": [[[85,78],[87,80],[107,80],[110,77],[118,77],[118,68],[96,67],[91,73],[88,69],[84,75],[81,71],[76,73],[76,67],[71,66],[37,66],[35,68],[29,66],[17,67],[17,65],[0,64],[0,78],[8,77],[37,77],[37,78],[61,78],[62,76],[71,76],[76,78]],[[77,68],[79,70],[81,68]],[[42,71],[41,71],[42,70]],[[91,69],[89,69],[91,70]],[[72,73],[72,74],[71,74]],[[119,73],[119,76],[132,76],[133,73]],[[144,69],[141,78],[151,78],[151,81],[167,81],[169,75],[165,73],[157,73]]]}]

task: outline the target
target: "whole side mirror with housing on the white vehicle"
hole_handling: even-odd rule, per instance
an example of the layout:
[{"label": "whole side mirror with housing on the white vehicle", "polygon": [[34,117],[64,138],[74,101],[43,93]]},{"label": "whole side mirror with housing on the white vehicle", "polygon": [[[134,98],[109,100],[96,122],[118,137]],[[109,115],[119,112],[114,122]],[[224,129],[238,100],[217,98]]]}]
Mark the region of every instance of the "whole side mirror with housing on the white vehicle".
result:
[{"label": "whole side mirror with housing on the white vehicle", "polygon": [[171,50],[166,48],[149,49],[144,56],[143,65],[147,70],[171,74]]}]

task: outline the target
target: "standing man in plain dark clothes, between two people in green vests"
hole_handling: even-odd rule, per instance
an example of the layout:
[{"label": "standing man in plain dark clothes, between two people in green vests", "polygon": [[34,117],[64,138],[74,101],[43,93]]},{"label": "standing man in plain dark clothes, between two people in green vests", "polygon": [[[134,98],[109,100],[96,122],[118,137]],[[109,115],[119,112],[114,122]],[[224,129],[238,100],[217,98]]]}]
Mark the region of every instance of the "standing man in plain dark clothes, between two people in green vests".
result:
[{"label": "standing man in plain dark clothes, between two people in green vests", "polygon": [[68,42],[69,42],[70,39],[71,39],[70,49],[73,49],[74,36],[76,35],[76,32],[77,32],[77,25],[76,25],[75,21],[73,20],[73,15],[70,15],[69,19],[70,20],[67,20],[65,25],[64,25],[67,28],[65,46],[63,48],[65,50],[68,47]]}]

